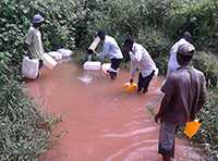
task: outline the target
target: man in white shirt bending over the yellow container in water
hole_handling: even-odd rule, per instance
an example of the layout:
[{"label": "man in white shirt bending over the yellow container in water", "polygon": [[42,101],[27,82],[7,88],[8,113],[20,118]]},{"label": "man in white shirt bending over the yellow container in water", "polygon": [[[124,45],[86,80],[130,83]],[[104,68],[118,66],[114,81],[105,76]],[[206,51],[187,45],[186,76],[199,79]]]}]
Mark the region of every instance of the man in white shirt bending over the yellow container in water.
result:
[{"label": "man in white shirt bending over the yellow container in water", "polygon": [[131,82],[134,79],[134,75],[138,70],[137,92],[146,94],[157,70],[156,64],[147,50],[142,45],[134,42],[132,38],[125,39],[124,49],[131,58]]}]

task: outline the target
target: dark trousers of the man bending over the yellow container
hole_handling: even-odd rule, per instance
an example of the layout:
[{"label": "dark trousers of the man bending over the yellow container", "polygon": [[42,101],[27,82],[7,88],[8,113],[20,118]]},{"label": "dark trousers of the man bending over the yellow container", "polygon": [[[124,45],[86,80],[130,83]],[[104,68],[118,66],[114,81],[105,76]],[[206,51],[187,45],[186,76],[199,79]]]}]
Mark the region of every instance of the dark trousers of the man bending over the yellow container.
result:
[{"label": "dark trousers of the man bending over the yellow container", "polygon": [[155,74],[155,71],[153,70],[150,75],[143,77],[142,73],[140,72],[138,83],[137,83],[137,92],[144,92],[144,94],[147,92],[149,83],[153,79],[154,74]]}]

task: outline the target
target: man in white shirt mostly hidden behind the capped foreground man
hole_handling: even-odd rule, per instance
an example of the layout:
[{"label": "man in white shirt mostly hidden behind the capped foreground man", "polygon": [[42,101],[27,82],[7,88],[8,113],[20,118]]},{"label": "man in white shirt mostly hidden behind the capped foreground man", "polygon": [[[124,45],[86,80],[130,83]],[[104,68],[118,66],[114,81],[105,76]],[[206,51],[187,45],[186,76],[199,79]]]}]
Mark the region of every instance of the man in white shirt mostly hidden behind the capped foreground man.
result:
[{"label": "man in white shirt mostly hidden behind the capped foreground man", "polygon": [[192,35],[189,32],[185,32],[182,38],[172,46],[172,48],[170,49],[170,58],[168,62],[167,75],[177,71],[177,69],[180,66],[177,60],[178,48],[181,45],[190,45],[191,41],[192,41]]}]

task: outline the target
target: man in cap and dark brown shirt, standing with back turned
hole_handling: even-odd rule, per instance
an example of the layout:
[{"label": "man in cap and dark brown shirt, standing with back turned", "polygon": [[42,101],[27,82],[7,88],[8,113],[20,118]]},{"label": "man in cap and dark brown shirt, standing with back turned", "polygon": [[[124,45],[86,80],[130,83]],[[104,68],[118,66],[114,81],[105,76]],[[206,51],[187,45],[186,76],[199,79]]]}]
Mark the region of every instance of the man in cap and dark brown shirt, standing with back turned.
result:
[{"label": "man in cap and dark brown shirt, standing with back turned", "polygon": [[193,121],[206,100],[204,74],[190,66],[195,48],[191,44],[178,48],[177,59],[180,67],[168,75],[161,91],[165,92],[159,112],[155,116],[161,123],[158,152],[164,161],[174,157],[175,128]]}]

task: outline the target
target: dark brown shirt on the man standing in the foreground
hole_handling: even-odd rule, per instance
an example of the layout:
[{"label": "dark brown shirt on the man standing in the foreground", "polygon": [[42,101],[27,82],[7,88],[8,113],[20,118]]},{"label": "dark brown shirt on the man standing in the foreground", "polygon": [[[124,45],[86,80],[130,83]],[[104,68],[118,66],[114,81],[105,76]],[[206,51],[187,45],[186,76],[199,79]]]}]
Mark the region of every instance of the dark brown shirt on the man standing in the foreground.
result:
[{"label": "dark brown shirt on the man standing in the foreground", "polygon": [[204,74],[192,66],[180,67],[170,74],[162,90],[169,92],[173,89],[171,91],[173,98],[169,102],[171,109],[166,112],[162,120],[175,124],[184,124],[193,120],[202,108],[204,86]]}]

